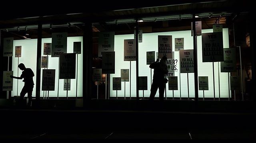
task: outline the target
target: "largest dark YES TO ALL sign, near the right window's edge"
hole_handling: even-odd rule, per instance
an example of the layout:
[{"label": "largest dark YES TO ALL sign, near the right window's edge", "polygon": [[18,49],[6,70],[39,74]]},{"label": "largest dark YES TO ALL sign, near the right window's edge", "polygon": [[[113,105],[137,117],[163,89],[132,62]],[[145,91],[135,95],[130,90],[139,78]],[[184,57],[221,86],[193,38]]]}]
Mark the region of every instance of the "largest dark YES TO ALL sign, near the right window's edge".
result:
[{"label": "largest dark YES TO ALL sign, near the right window's edge", "polygon": [[222,33],[202,34],[202,54],[203,62],[224,61]]}]

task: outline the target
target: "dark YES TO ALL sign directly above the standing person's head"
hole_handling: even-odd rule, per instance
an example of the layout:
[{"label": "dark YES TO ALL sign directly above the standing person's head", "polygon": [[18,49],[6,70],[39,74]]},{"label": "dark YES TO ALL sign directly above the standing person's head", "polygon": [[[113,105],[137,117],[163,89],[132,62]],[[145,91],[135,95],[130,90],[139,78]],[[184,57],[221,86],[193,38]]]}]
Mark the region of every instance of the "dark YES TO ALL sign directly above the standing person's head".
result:
[{"label": "dark YES TO ALL sign directly above the standing person's head", "polygon": [[158,58],[172,59],[172,36],[158,35]]}]

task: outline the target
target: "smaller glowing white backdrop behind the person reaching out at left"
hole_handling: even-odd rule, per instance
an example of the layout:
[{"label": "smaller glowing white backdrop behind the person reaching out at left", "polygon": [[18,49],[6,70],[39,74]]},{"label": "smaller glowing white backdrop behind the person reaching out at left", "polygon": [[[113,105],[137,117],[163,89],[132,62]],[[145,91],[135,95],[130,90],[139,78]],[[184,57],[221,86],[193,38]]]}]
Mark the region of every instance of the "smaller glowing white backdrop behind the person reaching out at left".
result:
[{"label": "smaller glowing white backdrop behind the person reaching out at left", "polygon": [[[83,46],[83,37],[68,37],[68,49],[67,53],[73,53],[73,42],[75,41],[81,41]],[[42,56],[43,56],[43,47],[44,43],[52,43],[52,38],[44,38],[42,39]],[[36,83],[36,50],[37,50],[37,39],[26,39],[26,40],[14,40],[14,48],[15,46],[21,45],[22,46],[22,57],[19,59],[20,63],[24,63],[24,65],[28,68],[31,68],[34,71],[34,82]],[[77,96],[82,97],[83,93],[83,48],[81,48],[82,54],[78,54],[78,92]],[[56,69],[56,78],[55,78],[55,90],[49,91],[49,97],[57,97],[58,94],[58,63],[59,58],[58,57],[51,57],[51,55],[48,55],[48,69]],[[13,59],[13,65],[12,69],[14,71],[14,76],[17,75],[17,63],[18,58],[12,58]],[[41,85],[40,90],[42,90],[42,69],[41,68]],[[21,71],[19,71],[19,75],[21,74]],[[66,97],[66,91],[63,90],[63,84],[64,79],[60,79],[59,82],[59,97]],[[22,80],[19,82],[19,89],[18,94],[20,93],[24,83]],[[33,90],[33,97],[36,96],[35,94],[36,86],[34,86]],[[12,92],[12,96],[15,96],[17,93],[17,80],[14,80],[14,91]],[[43,91],[40,92],[40,97],[43,97]],[[27,95],[26,95],[27,96]],[[71,90],[68,91],[68,97],[76,97],[76,79],[71,79]]]}]

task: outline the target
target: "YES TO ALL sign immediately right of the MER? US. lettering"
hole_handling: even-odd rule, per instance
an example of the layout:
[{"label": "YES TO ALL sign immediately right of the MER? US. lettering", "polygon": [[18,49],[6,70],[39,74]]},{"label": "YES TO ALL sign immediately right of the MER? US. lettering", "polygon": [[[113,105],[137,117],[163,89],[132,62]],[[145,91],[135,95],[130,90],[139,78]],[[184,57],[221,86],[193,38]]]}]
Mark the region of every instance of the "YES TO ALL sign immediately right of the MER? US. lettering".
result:
[{"label": "YES TO ALL sign immediately right of the MER? US. lettering", "polygon": [[180,73],[194,72],[193,50],[180,50]]}]

